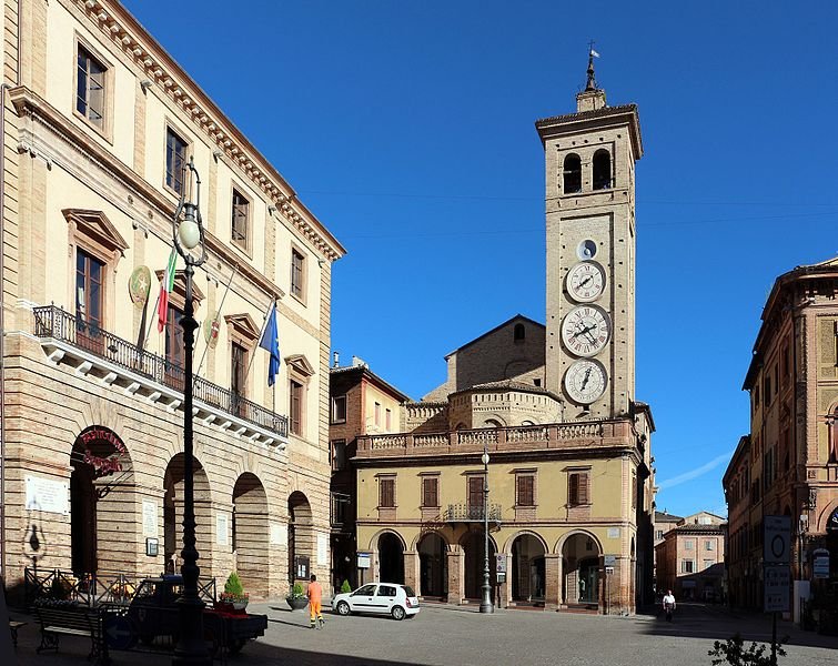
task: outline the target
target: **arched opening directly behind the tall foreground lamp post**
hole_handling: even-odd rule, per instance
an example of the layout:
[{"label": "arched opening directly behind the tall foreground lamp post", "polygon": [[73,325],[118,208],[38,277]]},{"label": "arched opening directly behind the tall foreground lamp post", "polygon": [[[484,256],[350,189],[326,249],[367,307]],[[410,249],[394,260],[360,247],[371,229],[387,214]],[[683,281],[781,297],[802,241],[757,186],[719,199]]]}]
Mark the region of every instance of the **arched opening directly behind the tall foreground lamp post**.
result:
[{"label": "arched opening directly behind the tall foreground lamp post", "polygon": [[[174,573],[182,563],[183,549],[183,493],[185,456],[175,453],[163,474],[163,558],[164,568]],[[206,574],[212,571],[215,525],[212,519],[212,488],[198,456],[192,458],[193,494],[195,506],[195,547],[199,566]]]}]

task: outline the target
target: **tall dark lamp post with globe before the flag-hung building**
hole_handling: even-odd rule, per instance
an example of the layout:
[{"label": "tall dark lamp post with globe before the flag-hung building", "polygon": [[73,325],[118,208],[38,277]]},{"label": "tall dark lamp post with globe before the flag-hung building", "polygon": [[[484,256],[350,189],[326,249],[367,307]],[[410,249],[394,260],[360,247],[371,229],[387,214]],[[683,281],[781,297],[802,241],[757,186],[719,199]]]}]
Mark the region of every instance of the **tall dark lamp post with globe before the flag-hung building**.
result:
[{"label": "tall dark lamp post with globe before the flag-hung building", "polygon": [[[198,595],[198,548],[195,547],[195,494],[194,494],[194,454],[192,451],[192,347],[195,342],[198,322],[194,317],[192,302],[192,276],[195,266],[206,261],[204,245],[204,229],[201,222],[201,178],[198,175],[194,162],[190,159],[183,169],[181,198],[172,218],[174,248],[186,264],[186,302],[183,309],[181,326],[183,326],[184,346],[184,379],[183,379],[183,594],[178,599],[179,632],[178,645],[174,648],[172,666],[211,666],[212,659],[206,650],[203,634],[204,604]],[[186,200],[188,190],[192,188],[192,176],[195,182],[195,203]],[[191,194],[191,192],[190,192]],[[191,253],[200,245],[200,256]]]}]

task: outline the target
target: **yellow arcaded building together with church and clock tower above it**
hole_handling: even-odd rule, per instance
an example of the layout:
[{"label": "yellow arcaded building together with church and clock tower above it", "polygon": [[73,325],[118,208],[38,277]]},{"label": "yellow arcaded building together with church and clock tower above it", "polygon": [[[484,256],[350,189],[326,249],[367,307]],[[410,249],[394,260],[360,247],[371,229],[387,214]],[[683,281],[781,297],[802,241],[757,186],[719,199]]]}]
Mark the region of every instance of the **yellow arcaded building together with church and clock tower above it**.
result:
[{"label": "yellow arcaded building together with church and clock tower above it", "polygon": [[357,440],[365,579],[476,601],[485,518],[504,606],[630,613],[649,598],[654,422],[634,394],[634,168],[643,149],[636,107],[608,107],[593,63],[588,74],[575,113],[536,123],[546,326],[517,315],[461,346],[446,356],[446,382],[405,405],[403,432]]}]

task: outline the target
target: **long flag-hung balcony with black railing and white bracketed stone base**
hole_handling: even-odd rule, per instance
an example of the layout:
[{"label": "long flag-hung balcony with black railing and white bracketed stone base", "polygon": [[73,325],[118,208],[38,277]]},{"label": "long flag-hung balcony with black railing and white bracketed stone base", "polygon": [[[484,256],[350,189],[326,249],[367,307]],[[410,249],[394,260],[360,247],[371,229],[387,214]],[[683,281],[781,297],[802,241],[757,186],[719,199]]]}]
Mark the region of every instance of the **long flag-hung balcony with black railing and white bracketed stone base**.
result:
[{"label": "long flag-hung balcony with black railing and white bracketed stone base", "polygon": [[[184,370],[112,333],[91,326],[54,305],[36,307],[34,335],[55,364],[74,366],[75,374],[120,387],[125,395],[144,396],[174,412],[182,408]],[[287,417],[241,395],[194,377],[193,413],[198,422],[229,430],[233,435],[285,446]]]}]

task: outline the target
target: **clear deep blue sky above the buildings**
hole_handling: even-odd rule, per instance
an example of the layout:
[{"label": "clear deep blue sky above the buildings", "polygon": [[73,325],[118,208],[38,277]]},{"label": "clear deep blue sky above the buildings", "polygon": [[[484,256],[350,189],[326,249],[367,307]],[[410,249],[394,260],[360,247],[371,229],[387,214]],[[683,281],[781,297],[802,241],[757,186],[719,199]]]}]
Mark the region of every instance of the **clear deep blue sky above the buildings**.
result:
[{"label": "clear deep blue sky above the buildings", "polygon": [[518,312],[544,321],[533,122],[575,109],[594,39],[646,150],[637,398],[658,508],[724,512],[771,283],[838,254],[835,3],[127,4],[349,249],[333,347],[415,398],[451,350]]}]

